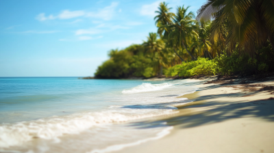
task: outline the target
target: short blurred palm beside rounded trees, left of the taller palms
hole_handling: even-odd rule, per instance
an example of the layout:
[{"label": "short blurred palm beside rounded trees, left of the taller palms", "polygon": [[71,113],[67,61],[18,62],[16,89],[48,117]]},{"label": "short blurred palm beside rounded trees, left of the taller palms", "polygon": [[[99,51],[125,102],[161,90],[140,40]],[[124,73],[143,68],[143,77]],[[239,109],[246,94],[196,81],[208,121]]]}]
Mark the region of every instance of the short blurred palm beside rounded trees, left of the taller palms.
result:
[{"label": "short blurred palm beside rounded trees, left of the taller palms", "polygon": [[162,76],[162,66],[164,65],[164,53],[162,49],[164,48],[164,42],[158,39],[157,33],[149,33],[147,41],[142,43],[145,46],[147,53],[153,54],[153,59],[159,67],[159,75]]}]

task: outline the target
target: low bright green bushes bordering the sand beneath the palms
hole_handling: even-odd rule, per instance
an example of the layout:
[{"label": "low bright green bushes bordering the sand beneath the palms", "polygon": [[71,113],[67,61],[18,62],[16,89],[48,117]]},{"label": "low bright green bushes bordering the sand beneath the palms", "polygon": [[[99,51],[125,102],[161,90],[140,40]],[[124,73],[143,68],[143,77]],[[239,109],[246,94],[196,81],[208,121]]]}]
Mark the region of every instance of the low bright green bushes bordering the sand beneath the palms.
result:
[{"label": "low bright green bushes bordering the sand beneath the palms", "polygon": [[165,74],[167,77],[214,74],[244,76],[274,70],[274,52],[271,51],[271,46],[261,48],[256,56],[257,58],[251,58],[247,54],[240,55],[238,51],[234,51],[230,56],[227,53],[222,53],[212,60],[198,57],[197,61],[182,62],[182,64],[169,68]]}]

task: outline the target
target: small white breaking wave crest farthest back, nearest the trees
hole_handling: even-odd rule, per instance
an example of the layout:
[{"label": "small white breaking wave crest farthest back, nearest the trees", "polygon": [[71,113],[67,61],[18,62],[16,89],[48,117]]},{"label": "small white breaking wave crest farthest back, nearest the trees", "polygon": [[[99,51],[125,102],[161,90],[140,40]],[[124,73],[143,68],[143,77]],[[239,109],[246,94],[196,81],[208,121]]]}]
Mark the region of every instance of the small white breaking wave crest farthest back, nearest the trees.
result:
[{"label": "small white breaking wave crest farthest back, nearest the trees", "polygon": [[139,92],[152,92],[164,89],[166,87],[170,87],[170,83],[160,83],[160,84],[151,84],[151,83],[142,83],[142,85],[138,85],[133,87],[132,89],[124,89],[123,94],[134,94]]}]

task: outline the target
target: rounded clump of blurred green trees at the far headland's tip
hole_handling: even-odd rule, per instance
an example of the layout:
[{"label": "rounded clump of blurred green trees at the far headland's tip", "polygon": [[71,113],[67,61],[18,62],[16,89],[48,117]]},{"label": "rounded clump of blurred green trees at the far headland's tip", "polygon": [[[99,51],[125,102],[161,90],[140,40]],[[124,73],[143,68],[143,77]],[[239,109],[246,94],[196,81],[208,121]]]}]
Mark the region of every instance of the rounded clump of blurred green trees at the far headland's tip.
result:
[{"label": "rounded clump of blurred green trees at the far headland's tip", "polygon": [[98,78],[115,79],[127,77],[153,77],[154,61],[145,55],[142,45],[132,45],[121,51],[112,50],[110,59],[105,61],[95,73]]}]

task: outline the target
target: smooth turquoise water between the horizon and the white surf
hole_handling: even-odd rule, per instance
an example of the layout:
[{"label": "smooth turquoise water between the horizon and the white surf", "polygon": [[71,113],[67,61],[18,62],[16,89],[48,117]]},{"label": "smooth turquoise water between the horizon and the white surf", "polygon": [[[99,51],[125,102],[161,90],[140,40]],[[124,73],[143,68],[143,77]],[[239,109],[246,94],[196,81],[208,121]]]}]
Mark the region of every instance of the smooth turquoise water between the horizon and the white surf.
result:
[{"label": "smooth turquoise water between the horizon and the white surf", "polygon": [[111,96],[140,83],[142,81],[77,77],[0,78],[0,113],[14,114],[1,115],[0,122],[103,109],[111,105]]}]

